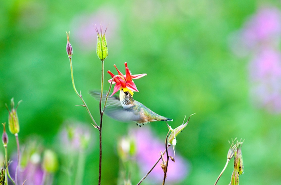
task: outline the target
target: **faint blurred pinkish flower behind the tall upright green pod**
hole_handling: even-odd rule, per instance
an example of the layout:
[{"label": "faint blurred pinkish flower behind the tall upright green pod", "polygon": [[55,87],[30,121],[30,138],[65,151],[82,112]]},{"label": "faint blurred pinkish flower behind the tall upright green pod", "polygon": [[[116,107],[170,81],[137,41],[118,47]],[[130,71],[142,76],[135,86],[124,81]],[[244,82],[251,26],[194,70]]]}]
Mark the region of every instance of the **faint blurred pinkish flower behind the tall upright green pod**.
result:
[{"label": "faint blurred pinkish flower behind the tall upright green pod", "polygon": [[[98,28],[100,24],[108,25],[106,30],[106,40],[110,40],[110,44],[113,42],[113,38],[116,37],[116,32],[119,26],[119,13],[116,12],[114,8],[103,7],[99,8],[96,12],[91,15],[79,15],[74,18],[73,26],[73,39],[76,40],[83,51],[96,51],[97,34],[94,29],[94,25]],[[105,30],[106,26],[103,28]],[[98,29],[99,30],[99,29]]]}]

